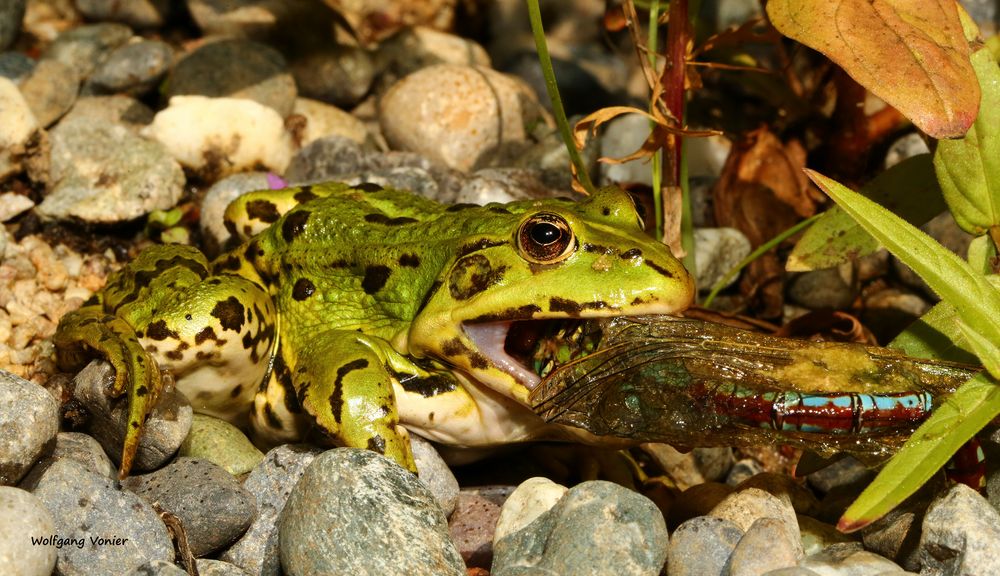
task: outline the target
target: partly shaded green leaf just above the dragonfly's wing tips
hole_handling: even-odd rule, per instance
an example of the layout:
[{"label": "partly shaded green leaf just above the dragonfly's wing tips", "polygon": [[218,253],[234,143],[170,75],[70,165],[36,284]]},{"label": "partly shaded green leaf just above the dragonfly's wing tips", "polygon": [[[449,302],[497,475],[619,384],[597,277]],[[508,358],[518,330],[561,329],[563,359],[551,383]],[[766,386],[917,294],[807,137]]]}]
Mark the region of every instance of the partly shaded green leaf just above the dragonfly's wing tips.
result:
[{"label": "partly shaded green leaf just above the dragonfly's wing tips", "polygon": [[948,302],[938,302],[889,342],[889,348],[908,356],[978,364],[975,353],[965,343],[958,326],[958,312]]}]

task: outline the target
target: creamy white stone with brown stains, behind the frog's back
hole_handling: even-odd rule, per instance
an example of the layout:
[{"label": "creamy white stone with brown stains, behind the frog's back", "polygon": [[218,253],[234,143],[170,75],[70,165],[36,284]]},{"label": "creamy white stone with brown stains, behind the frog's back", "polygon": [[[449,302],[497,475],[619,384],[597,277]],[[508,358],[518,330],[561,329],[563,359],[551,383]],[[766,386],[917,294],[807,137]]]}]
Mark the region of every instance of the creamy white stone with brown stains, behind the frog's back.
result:
[{"label": "creamy white stone with brown stains, behind the frog's back", "polygon": [[281,173],[293,153],[281,116],[239,98],[174,96],[141,133],[163,144],[184,167],[212,180],[260,167]]}]

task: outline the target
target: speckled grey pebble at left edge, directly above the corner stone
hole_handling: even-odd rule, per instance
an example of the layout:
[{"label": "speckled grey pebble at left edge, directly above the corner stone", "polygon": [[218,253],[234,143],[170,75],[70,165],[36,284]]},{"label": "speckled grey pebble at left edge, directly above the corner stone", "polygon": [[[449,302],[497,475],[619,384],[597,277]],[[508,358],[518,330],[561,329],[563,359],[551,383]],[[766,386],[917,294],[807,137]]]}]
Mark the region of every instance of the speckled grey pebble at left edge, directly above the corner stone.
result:
[{"label": "speckled grey pebble at left edge, directly above the corner stone", "polygon": [[17,484],[59,431],[59,403],[44,388],[0,370],[0,485]]}]

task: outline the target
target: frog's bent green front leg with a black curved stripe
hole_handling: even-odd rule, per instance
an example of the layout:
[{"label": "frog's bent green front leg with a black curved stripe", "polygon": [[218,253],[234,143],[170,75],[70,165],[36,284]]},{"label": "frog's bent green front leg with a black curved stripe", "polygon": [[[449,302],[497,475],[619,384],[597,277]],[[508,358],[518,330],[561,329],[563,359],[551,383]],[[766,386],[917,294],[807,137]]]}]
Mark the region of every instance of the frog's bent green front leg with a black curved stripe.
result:
[{"label": "frog's bent green front leg with a black curved stripe", "polygon": [[399,424],[389,356],[378,339],[345,330],[285,341],[292,382],[305,411],[339,444],[384,454],[416,472],[409,433]]}]

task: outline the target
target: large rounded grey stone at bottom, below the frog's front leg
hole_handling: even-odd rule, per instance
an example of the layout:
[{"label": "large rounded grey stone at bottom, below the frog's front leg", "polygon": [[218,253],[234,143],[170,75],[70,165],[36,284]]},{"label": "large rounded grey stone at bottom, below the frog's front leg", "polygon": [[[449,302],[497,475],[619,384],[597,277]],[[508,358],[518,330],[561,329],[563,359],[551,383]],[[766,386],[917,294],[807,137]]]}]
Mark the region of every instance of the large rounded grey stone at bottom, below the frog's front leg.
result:
[{"label": "large rounded grey stone at bottom, below the frog's front leg", "polygon": [[318,456],[292,489],[279,534],[287,576],[465,574],[434,496],[370,450]]}]

